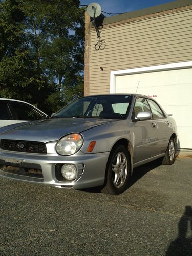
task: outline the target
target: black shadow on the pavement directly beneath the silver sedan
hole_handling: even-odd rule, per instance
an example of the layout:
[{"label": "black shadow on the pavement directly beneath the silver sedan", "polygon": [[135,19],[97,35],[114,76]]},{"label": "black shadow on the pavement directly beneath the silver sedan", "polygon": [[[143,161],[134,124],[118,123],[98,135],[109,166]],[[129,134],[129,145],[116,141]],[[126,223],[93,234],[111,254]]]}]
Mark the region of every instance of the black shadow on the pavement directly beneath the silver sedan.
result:
[{"label": "black shadow on the pavement directly beneath the silver sedan", "polygon": [[[150,163],[147,163],[147,164],[141,165],[137,168],[134,168],[133,174],[130,177],[130,181],[129,181],[127,189],[129,189],[129,187],[133,186],[145,174],[147,174],[151,170],[157,168],[161,164],[162,164],[162,159],[160,158],[160,159],[157,159]],[[91,187],[91,188],[80,189],[80,191],[89,192],[89,193],[101,193],[102,188],[103,188],[102,186],[101,187]]]}]

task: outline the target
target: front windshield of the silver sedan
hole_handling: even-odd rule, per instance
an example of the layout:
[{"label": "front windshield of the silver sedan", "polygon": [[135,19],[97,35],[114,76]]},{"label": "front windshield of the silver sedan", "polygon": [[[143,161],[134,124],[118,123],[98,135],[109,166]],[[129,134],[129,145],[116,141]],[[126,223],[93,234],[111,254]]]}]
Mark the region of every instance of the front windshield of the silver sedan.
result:
[{"label": "front windshield of the silver sedan", "polygon": [[55,113],[52,118],[124,119],[130,95],[102,95],[79,98]]}]

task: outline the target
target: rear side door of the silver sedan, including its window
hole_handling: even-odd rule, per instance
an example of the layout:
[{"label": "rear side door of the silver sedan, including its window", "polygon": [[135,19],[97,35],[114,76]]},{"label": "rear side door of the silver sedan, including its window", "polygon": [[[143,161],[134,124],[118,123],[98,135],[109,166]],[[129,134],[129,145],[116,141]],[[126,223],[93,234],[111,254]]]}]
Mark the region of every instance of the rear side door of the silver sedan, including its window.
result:
[{"label": "rear side door of the silver sedan, including its window", "polygon": [[160,106],[151,99],[147,99],[148,104],[150,105],[150,109],[152,112],[152,117],[154,122],[157,124],[157,130],[158,130],[158,148],[160,153],[164,153],[169,139],[170,134],[172,131],[170,131],[169,122],[167,121],[166,115],[160,108]]}]

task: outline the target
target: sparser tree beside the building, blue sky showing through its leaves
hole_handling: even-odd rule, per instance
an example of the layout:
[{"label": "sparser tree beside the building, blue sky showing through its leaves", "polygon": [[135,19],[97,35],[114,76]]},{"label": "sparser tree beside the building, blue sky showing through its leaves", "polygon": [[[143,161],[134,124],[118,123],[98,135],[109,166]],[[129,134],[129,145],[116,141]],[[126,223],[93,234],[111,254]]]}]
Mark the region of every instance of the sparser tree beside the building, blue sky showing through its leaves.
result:
[{"label": "sparser tree beside the building, blue sky showing through its leaves", "polygon": [[83,94],[84,10],[78,0],[28,1],[25,8],[37,69],[54,88],[47,104],[56,111]]}]

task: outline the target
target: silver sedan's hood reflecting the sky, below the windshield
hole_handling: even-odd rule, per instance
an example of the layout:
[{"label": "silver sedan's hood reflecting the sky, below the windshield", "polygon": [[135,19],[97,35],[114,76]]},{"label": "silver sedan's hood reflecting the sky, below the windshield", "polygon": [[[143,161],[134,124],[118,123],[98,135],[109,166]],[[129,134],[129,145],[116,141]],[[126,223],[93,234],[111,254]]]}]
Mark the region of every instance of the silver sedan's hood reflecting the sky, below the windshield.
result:
[{"label": "silver sedan's hood reflecting the sky, below the windshield", "polygon": [[63,118],[13,124],[0,129],[0,139],[49,142],[69,133],[81,133],[92,127],[114,122],[110,119]]}]

